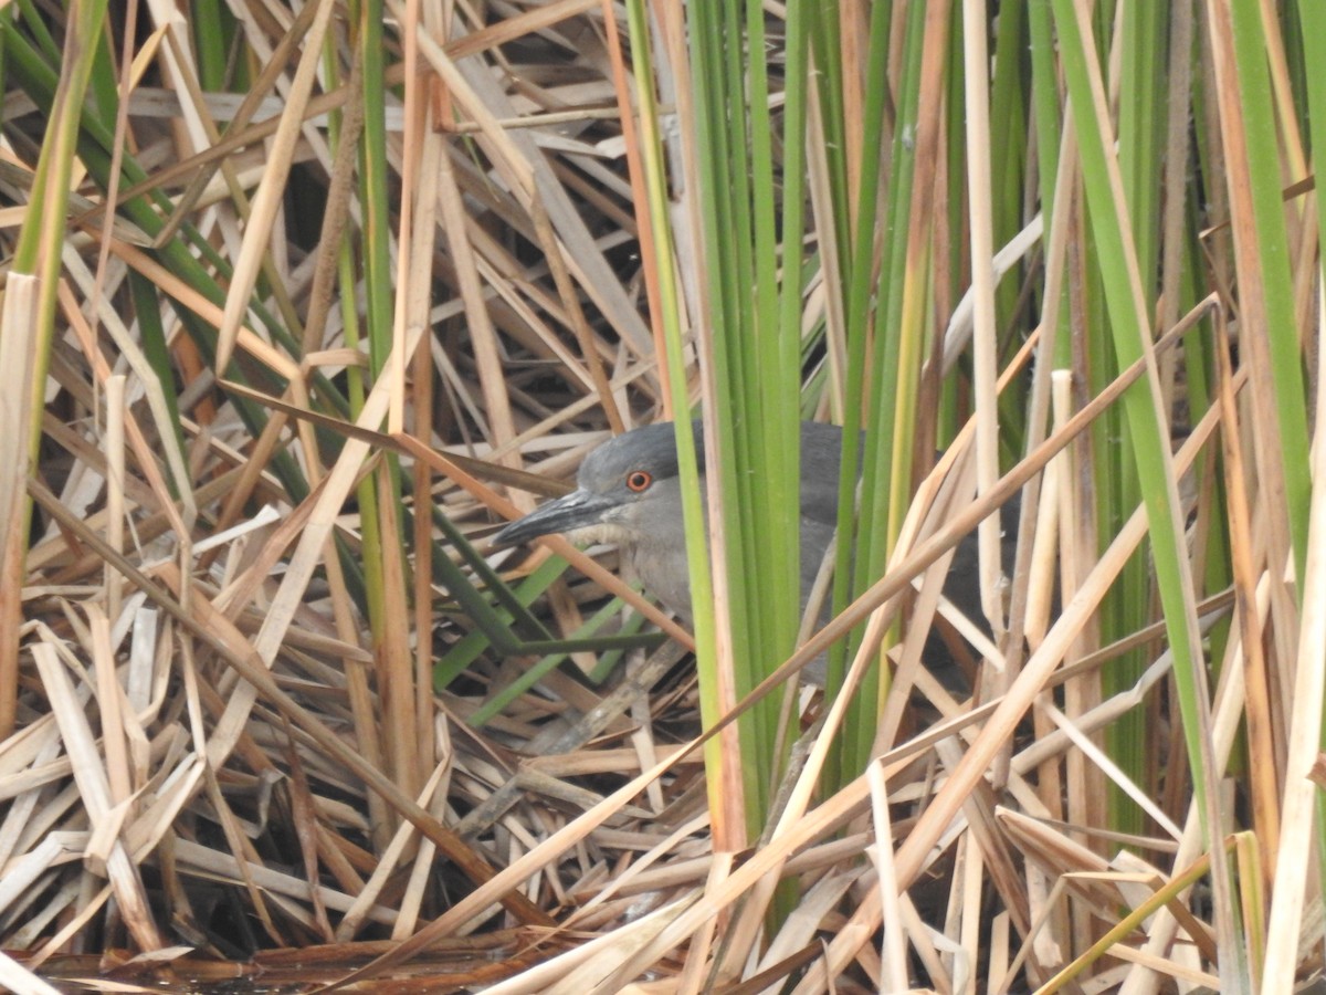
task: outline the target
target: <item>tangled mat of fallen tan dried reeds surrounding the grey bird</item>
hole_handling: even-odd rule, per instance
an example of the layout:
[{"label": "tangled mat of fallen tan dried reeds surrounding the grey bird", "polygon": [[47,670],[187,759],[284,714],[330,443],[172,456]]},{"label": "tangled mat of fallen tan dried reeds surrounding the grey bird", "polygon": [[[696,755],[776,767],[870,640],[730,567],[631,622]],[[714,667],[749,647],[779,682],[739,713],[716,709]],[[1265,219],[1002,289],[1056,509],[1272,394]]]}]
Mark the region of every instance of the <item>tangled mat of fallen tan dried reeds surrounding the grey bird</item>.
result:
[{"label": "tangled mat of fallen tan dried reeds surrounding the grey bird", "polygon": [[[1032,657],[1001,696],[953,700],[918,666],[918,628],[898,654],[876,760],[827,795],[815,795],[815,771],[823,730],[841,715],[815,703],[797,750],[808,767],[788,773],[782,817],[770,816],[748,852],[711,850],[704,769],[691,748],[697,704],[676,670],[678,642],[634,654],[602,686],[550,670],[477,728],[467,719],[530,659],[483,654],[465,679],[435,693],[435,655],[473,624],[431,581],[430,557],[459,561],[451,547],[430,545],[431,511],[483,547],[496,521],[532,505],[540,480],[556,490],[550,482],[607,430],[663,409],[642,295],[652,277],[633,255],[640,218],[615,29],[599,4],[562,0],[495,4],[483,27],[447,44],[432,40],[442,37],[434,11],[423,13],[426,31],[391,34],[400,48],[389,53],[387,78],[404,100],[391,98],[387,162],[378,163],[394,211],[378,230],[392,233],[390,358],[350,419],[316,379],[345,385],[369,362],[346,340],[337,268],[342,231],[369,237],[351,175],[363,93],[353,74],[334,88],[316,77],[320,32],[341,46],[346,28],[332,4],[310,3],[300,17],[281,4],[237,7],[247,49],[278,53],[255,68],[280,97],[255,88],[239,106],[203,93],[180,58],[180,25],[151,25],[135,54],[149,78],[168,82],[135,84],[125,143],[150,176],[121,191],[171,194],[172,223],[195,226],[233,264],[225,297],[208,300],[123,219],[107,230],[99,208],[76,219],[65,244],[56,387],[28,486],[40,535],[21,576],[0,580],[21,598],[21,628],[3,633],[20,647],[19,671],[0,673],[9,695],[8,712],[0,708],[0,947],[17,951],[0,959],[0,983],[41,991],[37,972],[130,987],[164,978],[273,990],[737,992],[792,990],[796,978],[800,992],[904,990],[923,975],[941,991],[1005,991],[1093,957],[1091,945],[1124,919],[1120,909],[1155,901],[1167,911],[1113,938],[1079,990],[1132,979],[1140,991],[1159,976],[1220,986],[1203,902],[1172,889],[1203,860],[1177,734],[1168,769],[1158,758],[1163,793],[1127,785],[1154,833],[1119,838],[1101,819],[1099,788],[1118,777],[1099,730],[1130,708],[1164,708],[1159,651],[1134,689],[1105,700],[1093,691],[1093,675],[1122,649],[1091,642],[1094,604],[1142,539],[1139,516],[1081,570],[1053,628],[1040,588]],[[420,16],[414,5],[389,11],[394,28]],[[15,135],[36,134],[40,118],[19,98],[11,106]],[[329,131],[333,111],[345,115],[349,151]],[[30,166],[30,151],[17,142],[11,155]],[[21,171],[3,182],[23,220]],[[312,247],[294,200],[301,186],[325,204]],[[99,194],[81,187],[95,204]],[[1050,233],[1052,249],[1066,230]],[[357,263],[347,267],[358,276]],[[178,426],[141,344],[131,273],[163,305]],[[1306,263],[1301,273],[1310,284]],[[30,321],[24,284],[8,275],[0,395],[9,398],[24,397],[30,377],[16,330]],[[253,320],[255,288],[302,333],[297,354]],[[167,300],[219,329],[221,364],[236,357],[255,391],[213,379]],[[1176,322],[1171,314],[1167,326]],[[1258,440],[1242,374],[1224,374],[1223,406],[1193,426],[1177,460],[1189,463],[1223,423],[1225,472],[1242,484],[1240,452]],[[269,398],[257,432],[235,407],[252,397]],[[9,545],[21,539],[27,476],[21,406],[12,410],[0,432]],[[1070,462],[1079,455],[1063,446],[1091,417],[1070,414],[1006,478],[1012,488],[1054,467],[1042,528],[1059,543],[1073,541],[1081,516]],[[399,459],[404,499],[370,504],[366,480],[379,495],[396,488],[387,452]],[[306,495],[292,494],[280,454],[298,459]],[[526,467],[534,478],[517,472]],[[939,482],[923,486],[919,509],[937,500]],[[1212,483],[1199,482],[1199,521],[1212,513]],[[504,486],[514,486],[509,496],[495,490]],[[1264,527],[1249,524],[1248,498],[1236,494],[1245,507],[1233,517],[1235,547],[1246,552],[1265,541]],[[911,556],[904,543],[875,601],[907,586],[964,528],[918,540]],[[566,544],[548,548],[577,568],[552,588],[549,628],[574,631],[601,588],[622,586]],[[346,560],[366,549],[378,559],[361,586]],[[1037,556],[1053,564],[1055,551]],[[544,557],[495,563],[526,574]],[[1258,854],[1245,854],[1269,881],[1276,771],[1288,751],[1276,716],[1289,708],[1290,671],[1276,671],[1268,689],[1261,657],[1284,666],[1290,654],[1264,645],[1257,626],[1293,612],[1280,577],[1258,569],[1241,570],[1212,714],[1219,756],[1228,759],[1246,722],[1258,755],[1274,759],[1240,785],[1270,820],[1257,825],[1260,870]],[[365,586],[379,598],[375,633]],[[1229,600],[1217,593],[1204,608]],[[934,610],[934,597],[922,604]],[[1237,626],[1257,638],[1240,639]],[[1148,630],[1136,642],[1158,638]],[[1284,625],[1274,639],[1293,642]],[[575,665],[587,670],[594,658],[573,654]],[[926,728],[904,715],[914,682],[936,715]],[[1052,694],[1059,685],[1063,707]],[[1028,711],[1032,738],[1020,732]],[[766,899],[784,881],[798,897],[770,925]],[[1321,917],[1309,918],[1315,942]]]}]

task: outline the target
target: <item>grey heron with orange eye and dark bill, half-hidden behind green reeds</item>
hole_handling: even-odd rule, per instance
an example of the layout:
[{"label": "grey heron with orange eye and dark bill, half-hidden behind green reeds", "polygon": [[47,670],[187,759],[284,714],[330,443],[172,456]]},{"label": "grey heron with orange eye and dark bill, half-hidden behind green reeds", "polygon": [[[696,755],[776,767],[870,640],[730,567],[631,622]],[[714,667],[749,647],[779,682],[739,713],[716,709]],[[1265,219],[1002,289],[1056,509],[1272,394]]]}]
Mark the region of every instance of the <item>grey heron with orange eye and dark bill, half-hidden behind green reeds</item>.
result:
[{"label": "grey heron with orange eye and dark bill, half-hidden behind green reeds", "polygon": [[[699,421],[692,423],[692,431],[703,487],[704,429]],[[801,423],[802,609],[810,600],[838,524],[842,442],[841,426]],[[1012,573],[1013,566],[1017,511],[1016,498],[1001,509],[1005,573]],[[654,422],[601,443],[582,460],[574,491],[508,524],[492,537],[492,547],[522,545],[552,533],[562,533],[577,543],[617,545],[627,570],[644,590],[691,624],[691,570],[682,520],[676,434],[671,422]],[[959,610],[983,624],[977,563],[973,533],[957,547],[944,594]],[[822,666],[808,667],[808,677],[814,683],[823,683],[822,674]]]}]

